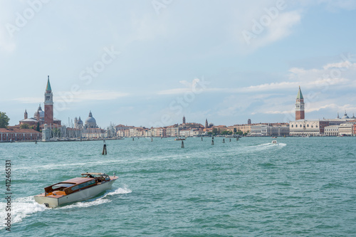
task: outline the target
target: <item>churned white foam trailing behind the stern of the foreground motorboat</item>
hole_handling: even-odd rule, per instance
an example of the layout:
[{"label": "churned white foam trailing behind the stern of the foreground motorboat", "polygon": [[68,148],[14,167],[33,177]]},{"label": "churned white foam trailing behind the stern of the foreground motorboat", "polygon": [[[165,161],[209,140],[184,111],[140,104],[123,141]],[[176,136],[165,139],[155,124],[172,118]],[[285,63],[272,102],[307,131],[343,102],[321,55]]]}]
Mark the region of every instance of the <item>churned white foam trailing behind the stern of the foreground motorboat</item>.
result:
[{"label": "churned white foam trailing behind the stern of the foreground motorboat", "polygon": [[[0,203],[0,216],[7,216],[6,203]],[[46,211],[46,206],[36,203],[33,196],[26,196],[23,198],[15,199],[11,202],[11,225],[22,221],[23,218],[38,211]],[[4,228],[5,220],[1,218],[1,228]]]}]

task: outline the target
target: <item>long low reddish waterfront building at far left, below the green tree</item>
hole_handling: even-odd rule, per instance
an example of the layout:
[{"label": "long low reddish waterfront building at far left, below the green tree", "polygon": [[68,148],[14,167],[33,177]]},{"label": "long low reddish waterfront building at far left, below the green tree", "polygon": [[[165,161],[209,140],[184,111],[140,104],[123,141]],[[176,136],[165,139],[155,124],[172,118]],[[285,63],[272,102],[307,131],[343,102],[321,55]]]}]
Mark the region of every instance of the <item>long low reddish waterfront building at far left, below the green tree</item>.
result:
[{"label": "long low reddish waterfront building at far left, below the green tree", "polygon": [[0,142],[31,141],[41,139],[41,132],[21,128],[0,128]]}]

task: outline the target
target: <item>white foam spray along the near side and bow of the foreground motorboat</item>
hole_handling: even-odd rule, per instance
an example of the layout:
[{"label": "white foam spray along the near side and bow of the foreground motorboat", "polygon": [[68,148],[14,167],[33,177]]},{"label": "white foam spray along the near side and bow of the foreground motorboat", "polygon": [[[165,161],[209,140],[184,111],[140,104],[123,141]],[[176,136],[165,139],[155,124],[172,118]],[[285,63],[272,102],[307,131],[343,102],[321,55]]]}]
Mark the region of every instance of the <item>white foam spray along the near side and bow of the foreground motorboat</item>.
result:
[{"label": "white foam spray along the near side and bow of the foreground motorboat", "polygon": [[62,206],[62,207],[58,207],[56,208],[61,210],[61,209],[74,209],[74,208],[82,208],[82,207],[88,207],[88,206],[97,206],[100,204],[105,204],[108,202],[111,202],[112,200],[108,199],[108,196],[115,196],[117,194],[130,194],[130,192],[132,192],[132,190],[127,189],[127,187],[124,188],[118,188],[115,189],[114,191],[110,191],[108,193],[105,193],[104,196],[100,196],[100,198],[98,199],[89,199],[86,201],[80,201],[80,202],[76,202],[74,204],[70,204],[68,206]]}]

